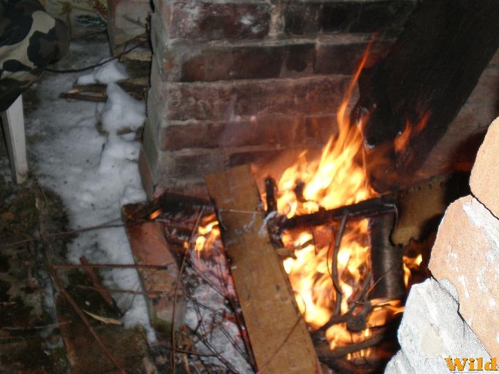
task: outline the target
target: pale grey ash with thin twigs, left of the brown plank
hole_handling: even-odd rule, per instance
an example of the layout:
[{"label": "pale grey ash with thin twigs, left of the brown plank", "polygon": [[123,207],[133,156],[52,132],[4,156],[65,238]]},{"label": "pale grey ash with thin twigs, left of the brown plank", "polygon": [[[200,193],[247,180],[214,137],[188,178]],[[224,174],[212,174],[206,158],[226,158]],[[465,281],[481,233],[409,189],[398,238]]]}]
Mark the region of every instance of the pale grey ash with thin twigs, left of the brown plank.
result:
[{"label": "pale grey ash with thin twigs, left of the brown plank", "polygon": [[[205,249],[203,249],[204,251]],[[184,347],[200,353],[191,366],[228,373],[254,373],[245,345],[245,327],[220,238],[208,253],[187,253]]]}]

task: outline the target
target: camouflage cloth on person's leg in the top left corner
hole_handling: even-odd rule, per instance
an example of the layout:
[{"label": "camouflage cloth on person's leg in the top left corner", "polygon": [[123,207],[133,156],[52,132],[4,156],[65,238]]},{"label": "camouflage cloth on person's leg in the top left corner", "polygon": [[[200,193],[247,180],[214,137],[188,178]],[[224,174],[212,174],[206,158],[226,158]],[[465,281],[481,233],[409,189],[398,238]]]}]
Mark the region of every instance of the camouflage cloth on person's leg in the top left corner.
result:
[{"label": "camouflage cloth on person's leg in the top left corner", "polygon": [[67,52],[69,39],[37,0],[0,0],[0,112]]}]

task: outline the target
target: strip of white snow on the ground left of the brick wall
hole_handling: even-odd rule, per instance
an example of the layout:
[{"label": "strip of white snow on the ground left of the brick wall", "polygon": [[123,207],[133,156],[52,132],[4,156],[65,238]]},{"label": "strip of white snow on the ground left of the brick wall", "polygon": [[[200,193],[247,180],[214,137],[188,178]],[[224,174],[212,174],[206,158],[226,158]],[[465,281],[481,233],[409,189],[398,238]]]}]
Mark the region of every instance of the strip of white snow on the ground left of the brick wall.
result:
[{"label": "strip of white snow on the ground left of the brick wall", "polygon": [[[105,40],[92,42],[90,47],[85,42],[73,42],[70,56],[76,58],[74,64],[85,66],[107,55],[107,50]],[[85,75],[80,73],[80,78],[75,73],[47,75],[37,87],[41,97],[38,108],[26,115],[31,173],[42,186],[60,195],[70,229],[119,224],[123,204],[146,199],[137,167],[140,144],[134,140],[134,133],[120,131],[137,130],[143,124],[146,108],[145,103],[134,100],[114,83],[126,77],[124,67],[116,61]],[[68,103],[59,99],[60,92],[70,89],[77,78],[79,84],[108,84],[107,103]],[[104,132],[98,131],[99,121]],[[123,227],[80,233],[69,244],[68,260],[79,263],[82,255],[95,263],[134,262]],[[112,269],[101,274],[110,288],[140,290],[134,269]],[[120,295],[116,303],[125,311],[125,326],[140,323],[148,339],[155,340],[143,296]]]}]

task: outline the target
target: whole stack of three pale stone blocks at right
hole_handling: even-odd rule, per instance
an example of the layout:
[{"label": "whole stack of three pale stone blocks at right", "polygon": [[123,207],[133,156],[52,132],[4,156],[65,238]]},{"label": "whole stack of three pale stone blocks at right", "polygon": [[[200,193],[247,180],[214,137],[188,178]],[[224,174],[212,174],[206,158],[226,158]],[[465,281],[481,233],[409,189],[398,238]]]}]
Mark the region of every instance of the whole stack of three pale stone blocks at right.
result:
[{"label": "whole stack of three pale stone blocks at right", "polygon": [[[471,173],[473,195],[450,204],[432,249],[432,278],[414,286],[386,373],[447,373],[445,358],[499,356],[499,118]],[[466,323],[464,323],[464,321]],[[466,370],[469,363],[466,364]],[[482,368],[483,370],[483,368]]]}]

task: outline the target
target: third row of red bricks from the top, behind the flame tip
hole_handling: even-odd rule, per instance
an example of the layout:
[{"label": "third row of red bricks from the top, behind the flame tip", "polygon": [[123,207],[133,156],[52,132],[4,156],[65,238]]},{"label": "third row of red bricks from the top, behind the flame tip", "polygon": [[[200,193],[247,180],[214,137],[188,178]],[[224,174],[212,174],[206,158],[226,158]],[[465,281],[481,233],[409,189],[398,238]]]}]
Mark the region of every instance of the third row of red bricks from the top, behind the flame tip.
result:
[{"label": "third row of red bricks from the top, behind the flame tip", "polygon": [[[277,114],[331,114],[341,103],[349,77],[166,83],[159,100],[166,120],[238,121],[238,117]],[[286,94],[283,94],[286,93]]]}]

